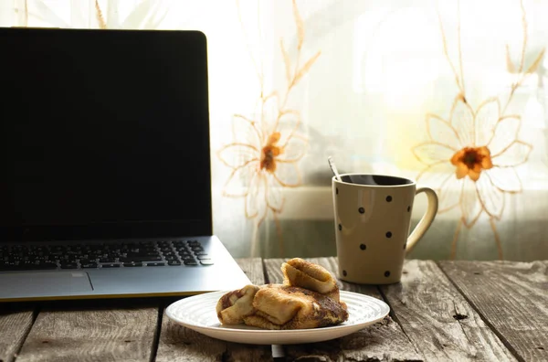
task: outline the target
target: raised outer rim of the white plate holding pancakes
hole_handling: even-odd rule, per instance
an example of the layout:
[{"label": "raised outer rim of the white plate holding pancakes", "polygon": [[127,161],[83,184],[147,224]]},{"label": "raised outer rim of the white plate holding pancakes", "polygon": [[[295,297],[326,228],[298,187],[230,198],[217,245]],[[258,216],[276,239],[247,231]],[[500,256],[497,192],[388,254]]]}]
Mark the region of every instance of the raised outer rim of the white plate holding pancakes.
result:
[{"label": "raised outer rim of the white plate holding pancakes", "polygon": [[[321,328],[286,329],[286,330],[261,329],[261,328],[257,328],[257,329],[240,329],[240,328],[232,328],[232,327],[225,327],[225,326],[221,327],[221,326],[211,326],[211,325],[196,325],[196,324],[192,324],[192,323],[188,323],[188,322],[183,322],[180,319],[177,319],[177,318],[174,317],[173,308],[176,307],[176,305],[179,304],[179,303],[184,303],[185,301],[188,301],[189,299],[200,299],[200,298],[204,298],[205,296],[213,296],[215,294],[218,294],[219,297],[220,297],[220,296],[224,295],[224,293],[229,293],[229,292],[230,291],[217,291],[217,292],[201,293],[201,294],[197,294],[197,295],[193,295],[193,296],[189,296],[189,297],[186,297],[186,298],[179,299],[178,301],[175,301],[174,303],[169,304],[167,306],[167,308],[165,308],[165,314],[174,323],[176,323],[178,325],[184,325],[185,327],[187,327],[189,329],[193,329],[198,333],[202,333],[200,330],[205,330],[205,331],[211,331],[213,333],[230,333],[230,334],[237,334],[237,335],[255,334],[255,335],[263,335],[263,336],[266,337],[267,335],[278,335],[278,336],[281,336],[281,335],[310,335],[310,334],[321,335],[321,334],[324,334],[324,333],[329,333],[329,331],[334,330],[334,329],[336,329],[336,330],[351,329],[351,328],[356,328],[360,325],[364,325],[364,327],[365,327],[367,325],[372,325],[374,323],[377,323],[377,322],[383,320],[388,314],[390,314],[390,311],[391,311],[390,305],[388,305],[388,303],[385,303],[385,301],[382,300],[382,299],[377,299],[377,298],[374,298],[373,296],[370,296],[370,295],[367,295],[367,294],[362,294],[362,293],[355,293],[355,292],[350,292],[350,291],[340,291],[342,302],[345,302],[344,301],[344,296],[345,295],[349,295],[349,296],[354,295],[354,296],[357,296],[357,297],[359,297],[361,299],[364,299],[364,300],[373,301],[374,303],[380,303],[383,307],[385,307],[385,314],[379,314],[378,317],[376,317],[372,320],[367,320],[365,322],[356,323],[356,324],[353,324],[353,325],[341,325],[340,324],[340,325],[325,326],[325,327],[321,327]],[[222,338],[218,338],[218,337],[214,337],[214,338],[222,339]]]}]

